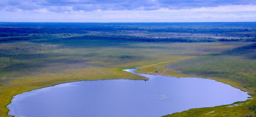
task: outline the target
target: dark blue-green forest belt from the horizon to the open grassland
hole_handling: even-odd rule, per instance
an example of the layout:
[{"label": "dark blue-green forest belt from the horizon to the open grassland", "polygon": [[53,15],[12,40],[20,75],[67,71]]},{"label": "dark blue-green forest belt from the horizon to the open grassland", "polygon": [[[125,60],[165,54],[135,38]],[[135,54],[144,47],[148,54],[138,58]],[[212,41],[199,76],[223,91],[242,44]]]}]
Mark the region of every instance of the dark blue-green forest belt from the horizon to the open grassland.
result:
[{"label": "dark blue-green forest belt from the horizon to the open grassland", "polygon": [[[149,38],[120,34],[122,31],[135,31],[134,33],[143,31],[155,35],[160,32],[211,34],[230,38],[202,36]],[[256,23],[0,23],[0,41],[2,42],[47,38],[46,34],[51,38],[54,36],[51,34],[80,34],[88,39],[138,42],[255,42]]]}]

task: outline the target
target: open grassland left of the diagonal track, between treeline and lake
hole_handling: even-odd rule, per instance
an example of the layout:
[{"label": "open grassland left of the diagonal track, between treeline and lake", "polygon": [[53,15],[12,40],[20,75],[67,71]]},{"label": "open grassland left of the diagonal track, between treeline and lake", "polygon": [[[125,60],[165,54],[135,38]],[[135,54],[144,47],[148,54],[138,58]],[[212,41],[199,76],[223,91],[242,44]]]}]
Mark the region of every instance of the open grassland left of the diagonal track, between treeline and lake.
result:
[{"label": "open grassland left of the diagonal track, between treeline and lake", "polygon": [[[250,42],[225,43],[111,43],[97,47],[28,42],[4,43],[12,52],[2,58],[1,116],[6,116],[12,96],[64,82],[98,79],[144,79],[122,72],[162,61],[177,61],[229,50]],[[92,43],[89,41],[88,43]],[[116,45],[116,46],[114,46]],[[43,49],[42,49],[43,48]],[[45,49],[48,48],[48,49]],[[2,50],[6,49],[3,47]],[[20,50],[22,50],[20,52]],[[26,56],[25,56],[26,55]],[[24,58],[25,57],[25,58]],[[7,61],[7,62],[6,62]]]}]

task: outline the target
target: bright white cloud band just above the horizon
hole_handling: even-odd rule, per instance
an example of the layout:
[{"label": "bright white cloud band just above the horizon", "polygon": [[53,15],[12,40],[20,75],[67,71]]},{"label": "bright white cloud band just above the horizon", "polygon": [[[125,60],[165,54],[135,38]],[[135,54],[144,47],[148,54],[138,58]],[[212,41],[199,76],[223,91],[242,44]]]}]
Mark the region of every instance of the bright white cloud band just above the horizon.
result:
[{"label": "bright white cloud band just above the horizon", "polygon": [[[199,21],[256,21],[255,5],[218,6],[170,10],[84,10],[74,11],[72,6],[62,6],[66,13],[54,12],[58,9],[19,9],[20,12],[0,12],[0,21],[40,21],[40,22],[199,22]],[[27,12],[24,12],[27,11]]]}]

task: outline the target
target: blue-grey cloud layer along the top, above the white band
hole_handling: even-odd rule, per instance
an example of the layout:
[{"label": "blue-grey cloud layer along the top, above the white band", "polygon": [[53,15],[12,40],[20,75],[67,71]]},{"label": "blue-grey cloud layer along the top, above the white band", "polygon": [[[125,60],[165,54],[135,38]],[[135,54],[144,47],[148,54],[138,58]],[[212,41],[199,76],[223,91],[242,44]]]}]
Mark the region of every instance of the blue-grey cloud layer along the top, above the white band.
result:
[{"label": "blue-grey cloud layer along the top, above the white band", "polygon": [[[158,10],[194,9],[230,5],[256,5],[255,0],[3,0],[0,10],[39,10],[52,12],[78,12],[79,10]],[[72,9],[70,9],[72,8]]]}]

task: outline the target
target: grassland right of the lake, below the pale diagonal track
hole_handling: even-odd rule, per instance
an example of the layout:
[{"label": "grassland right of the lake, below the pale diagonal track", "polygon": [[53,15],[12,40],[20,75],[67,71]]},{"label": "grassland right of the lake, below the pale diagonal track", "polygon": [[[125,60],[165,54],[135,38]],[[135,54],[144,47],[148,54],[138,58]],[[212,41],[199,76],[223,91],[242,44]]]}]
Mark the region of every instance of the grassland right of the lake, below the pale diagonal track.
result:
[{"label": "grassland right of the lake, below the pale diagonal track", "polygon": [[[175,63],[162,63],[142,68],[139,72],[178,77],[199,77],[215,79],[249,92],[253,100],[222,105],[214,108],[190,109],[168,116],[255,116],[256,104],[256,43],[237,47],[220,53],[181,60]],[[159,72],[156,73],[155,71]]]}]

